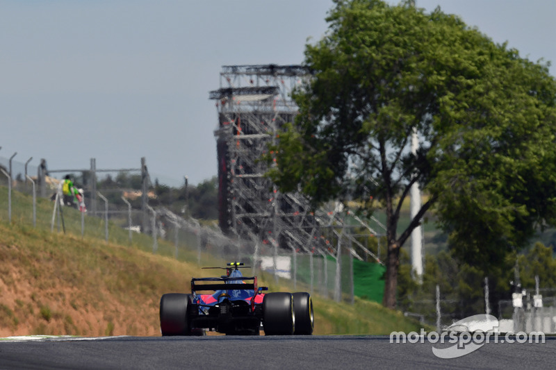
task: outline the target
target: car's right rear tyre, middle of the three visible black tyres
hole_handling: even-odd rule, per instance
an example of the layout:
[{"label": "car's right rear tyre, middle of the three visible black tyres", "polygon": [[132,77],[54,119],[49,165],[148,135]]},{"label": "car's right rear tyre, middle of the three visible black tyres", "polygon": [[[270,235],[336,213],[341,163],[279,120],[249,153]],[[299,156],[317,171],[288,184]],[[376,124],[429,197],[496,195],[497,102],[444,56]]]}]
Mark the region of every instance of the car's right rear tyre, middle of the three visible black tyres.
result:
[{"label": "car's right rear tyre, middle of the three visible black tyres", "polygon": [[292,335],[295,330],[293,298],[290,293],[268,293],[263,298],[265,335]]}]

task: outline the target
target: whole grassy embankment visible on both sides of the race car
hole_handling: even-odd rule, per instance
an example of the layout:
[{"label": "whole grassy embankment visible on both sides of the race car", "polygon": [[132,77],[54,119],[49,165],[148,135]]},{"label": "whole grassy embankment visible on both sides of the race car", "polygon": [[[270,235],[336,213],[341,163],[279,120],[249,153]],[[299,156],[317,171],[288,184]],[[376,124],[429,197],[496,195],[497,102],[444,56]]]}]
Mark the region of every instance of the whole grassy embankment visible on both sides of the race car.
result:
[{"label": "whole grassy embankment visible on both sides of the race car", "polygon": [[[66,233],[51,232],[53,204],[38,199],[37,226],[31,196],[12,192],[12,221],[7,217],[7,190],[0,186],[0,336],[8,335],[160,335],[158,303],[162,294],[188,292],[199,269],[196,238],[180,237],[177,259],[173,242],[158,240],[153,253],[149,235],[133,234],[104,219],[65,210]],[[224,262],[202,253],[201,265]],[[291,280],[275,281],[261,272],[259,285],[270,291],[293,291]],[[297,284],[297,291],[309,287]],[[418,331],[417,321],[359,298],[354,305],[313,293],[316,334],[381,334]]]}]

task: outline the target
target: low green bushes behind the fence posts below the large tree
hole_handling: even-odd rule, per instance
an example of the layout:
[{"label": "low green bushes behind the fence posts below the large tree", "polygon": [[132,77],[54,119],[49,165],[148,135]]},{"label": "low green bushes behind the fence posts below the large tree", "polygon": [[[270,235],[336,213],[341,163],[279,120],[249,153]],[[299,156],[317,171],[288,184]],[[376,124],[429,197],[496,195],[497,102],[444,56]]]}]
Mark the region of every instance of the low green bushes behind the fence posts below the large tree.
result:
[{"label": "low green bushes behind the fence posts below the large tree", "polygon": [[[517,271],[516,276],[516,261]],[[512,293],[523,289],[532,298],[536,292],[537,277],[543,296],[556,290],[556,259],[553,249],[537,242],[521,253],[509,253],[502,264],[486,273],[458,261],[453,253],[441,251],[427,255],[423,271],[423,284],[418,285],[409,274],[409,260],[402,259],[399,271],[398,294],[400,308],[423,315],[429,323],[436,320],[436,285],[439,286],[443,324],[473,314],[485,312],[485,280],[489,284],[489,307],[496,317],[509,318],[513,312]],[[548,296],[546,295],[548,293]]]}]

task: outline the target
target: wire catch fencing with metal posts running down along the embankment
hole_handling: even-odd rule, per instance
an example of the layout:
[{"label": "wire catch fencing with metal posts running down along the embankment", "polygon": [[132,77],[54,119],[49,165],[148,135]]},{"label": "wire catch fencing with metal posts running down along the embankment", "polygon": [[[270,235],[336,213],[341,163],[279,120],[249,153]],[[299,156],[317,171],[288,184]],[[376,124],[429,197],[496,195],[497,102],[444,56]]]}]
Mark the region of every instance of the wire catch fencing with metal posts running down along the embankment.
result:
[{"label": "wire catch fencing with metal posts running down along the embankment", "polygon": [[[2,159],[2,158],[0,158]],[[6,158],[3,158],[4,162]],[[285,251],[256,239],[240,239],[224,235],[220,229],[205,221],[176,215],[164,207],[140,203],[132,205],[122,196],[124,190],[96,190],[96,203],[92,206],[91,190],[86,189],[87,212],[60,205],[56,201],[56,190],[49,188],[46,196],[40,196],[38,178],[30,176],[38,167],[13,162],[10,169],[0,160],[0,221],[17,222],[34,228],[50,230],[51,233],[66,233],[85,238],[104,239],[106,243],[136,246],[152,253],[169,255],[177,260],[196,262],[201,266],[220,266],[223,261],[241,261],[252,267],[253,274],[268,274],[270,280],[289,283],[294,291],[320,294],[336,301],[354,302],[355,260],[346,248],[335,256],[325,252]],[[11,163],[10,163],[11,164]],[[3,167],[3,168],[2,168]],[[19,170],[25,168],[22,174]],[[146,190],[143,188],[142,190]],[[104,194],[103,194],[104,192]],[[122,202],[111,201],[115,194]],[[140,208],[138,208],[137,204]],[[94,209],[94,211],[93,211]],[[338,239],[339,244],[350,243]],[[319,254],[320,253],[320,254]],[[380,284],[379,284],[380,285]],[[377,292],[365,291],[359,296],[380,296]],[[369,289],[367,289],[369,290]]]}]

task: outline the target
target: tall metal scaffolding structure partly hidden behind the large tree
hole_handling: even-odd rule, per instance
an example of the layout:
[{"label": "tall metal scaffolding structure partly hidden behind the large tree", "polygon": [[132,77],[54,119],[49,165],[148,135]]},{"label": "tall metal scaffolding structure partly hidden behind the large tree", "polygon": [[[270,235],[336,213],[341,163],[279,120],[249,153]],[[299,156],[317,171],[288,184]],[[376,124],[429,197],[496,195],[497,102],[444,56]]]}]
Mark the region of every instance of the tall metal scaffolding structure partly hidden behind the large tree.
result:
[{"label": "tall metal scaffolding structure partly hidden behind the large tree", "polygon": [[[309,78],[309,71],[299,65],[222,67],[220,89],[209,93],[218,111],[214,135],[220,228],[256,246],[267,244],[275,255],[282,249],[338,258],[344,239],[350,245],[345,251],[354,257],[363,260],[368,256],[361,257],[352,243],[360,253],[378,260],[350,233],[354,226],[344,222],[348,210],[332,203],[329,210],[311,212],[304,196],[282,194],[265,177],[268,165],[261,157],[267,153],[268,144],[275,142],[281,127],[294,121],[298,108],[291,92]],[[363,227],[378,235],[370,226],[363,223]],[[337,242],[332,241],[333,235]]]}]

